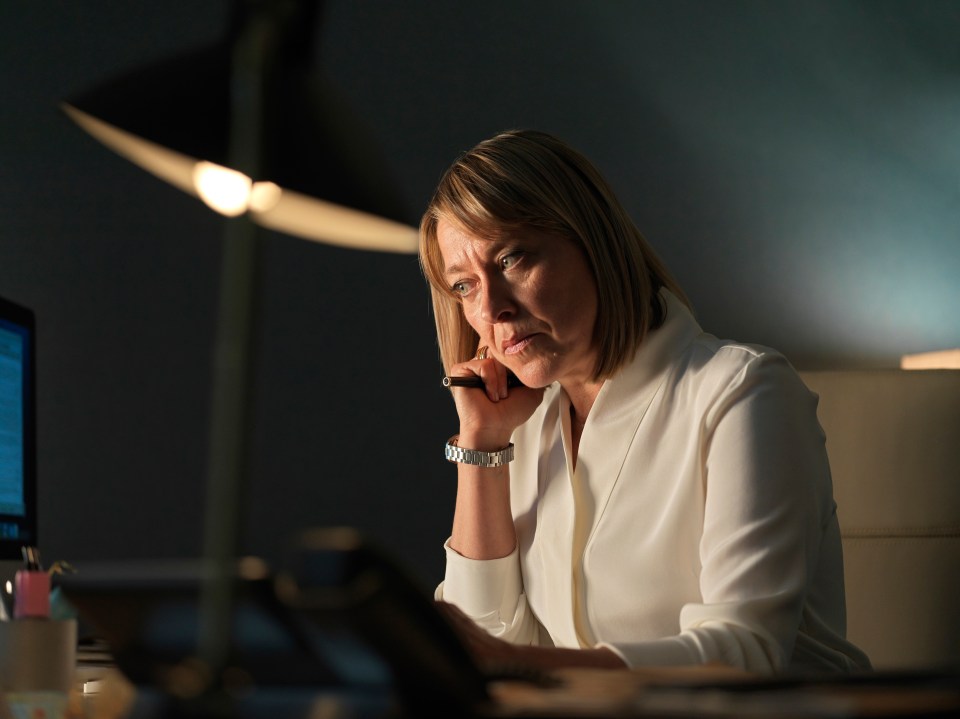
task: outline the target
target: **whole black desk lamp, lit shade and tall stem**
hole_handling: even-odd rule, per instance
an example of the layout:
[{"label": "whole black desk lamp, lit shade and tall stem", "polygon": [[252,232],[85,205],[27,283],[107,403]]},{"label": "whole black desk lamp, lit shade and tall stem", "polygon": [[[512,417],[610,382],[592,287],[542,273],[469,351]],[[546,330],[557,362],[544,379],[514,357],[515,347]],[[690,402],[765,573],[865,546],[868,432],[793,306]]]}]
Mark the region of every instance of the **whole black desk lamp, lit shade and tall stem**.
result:
[{"label": "whole black desk lamp, lit shade and tall stem", "polygon": [[224,667],[249,446],[260,229],[416,251],[417,232],[331,91],[309,70],[313,0],[239,0],[223,41],[63,104],[104,145],[233,219],[225,223],[208,446],[199,655]]}]

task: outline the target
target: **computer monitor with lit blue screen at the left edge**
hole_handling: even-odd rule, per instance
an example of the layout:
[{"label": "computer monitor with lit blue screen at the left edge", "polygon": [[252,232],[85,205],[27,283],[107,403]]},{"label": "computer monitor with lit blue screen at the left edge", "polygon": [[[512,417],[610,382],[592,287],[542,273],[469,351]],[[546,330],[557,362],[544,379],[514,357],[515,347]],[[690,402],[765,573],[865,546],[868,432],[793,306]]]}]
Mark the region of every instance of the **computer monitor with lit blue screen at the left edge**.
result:
[{"label": "computer monitor with lit blue screen at the left edge", "polygon": [[33,312],[0,298],[0,560],[37,545]]}]

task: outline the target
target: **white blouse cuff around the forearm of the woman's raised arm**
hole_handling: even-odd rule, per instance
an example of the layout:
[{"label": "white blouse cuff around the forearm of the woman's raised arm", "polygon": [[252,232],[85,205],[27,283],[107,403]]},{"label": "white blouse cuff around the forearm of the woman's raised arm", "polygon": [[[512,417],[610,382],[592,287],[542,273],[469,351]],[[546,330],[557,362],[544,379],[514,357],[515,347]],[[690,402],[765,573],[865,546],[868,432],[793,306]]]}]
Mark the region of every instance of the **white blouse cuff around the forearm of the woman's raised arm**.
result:
[{"label": "white blouse cuff around the forearm of the woman's raised arm", "polygon": [[535,644],[539,623],[527,607],[520,577],[520,554],[501,559],[467,559],[444,544],[447,567],[435,599],[457,605],[495,637],[514,644]]}]

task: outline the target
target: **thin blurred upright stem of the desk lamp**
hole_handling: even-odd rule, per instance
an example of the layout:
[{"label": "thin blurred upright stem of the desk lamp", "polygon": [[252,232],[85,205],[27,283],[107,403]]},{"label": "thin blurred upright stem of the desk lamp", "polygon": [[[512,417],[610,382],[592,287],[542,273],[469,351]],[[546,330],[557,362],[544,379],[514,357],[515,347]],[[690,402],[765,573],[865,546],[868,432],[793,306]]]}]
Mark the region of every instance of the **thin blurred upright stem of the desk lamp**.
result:
[{"label": "thin blurred upright stem of the desk lamp", "polygon": [[[267,13],[266,15],[268,15]],[[275,27],[252,13],[233,47],[230,88],[231,167],[259,175],[269,56]],[[246,216],[225,223],[214,357],[204,518],[207,575],[201,595],[199,656],[214,673],[213,691],[230,651],[236,563],[253,426],[253,348],[258,326],[259,228]]]}]

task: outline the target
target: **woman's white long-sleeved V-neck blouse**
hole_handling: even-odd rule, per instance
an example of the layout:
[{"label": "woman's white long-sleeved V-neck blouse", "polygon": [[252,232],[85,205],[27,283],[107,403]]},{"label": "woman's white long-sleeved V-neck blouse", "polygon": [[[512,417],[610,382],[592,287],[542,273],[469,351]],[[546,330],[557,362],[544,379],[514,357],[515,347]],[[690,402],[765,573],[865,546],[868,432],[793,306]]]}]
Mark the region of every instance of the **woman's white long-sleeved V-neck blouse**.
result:
[{"label": "woman's white long-sleeved V-neck blouse", "polygon": [[553,385],[514,433],[518,545],[447,550],[436,597],[508,641],[605,646],[628,666],[866,668],[844,639],[843,558],[817,397],[782,355],[667,321],[604,382],[571,469]]}]

